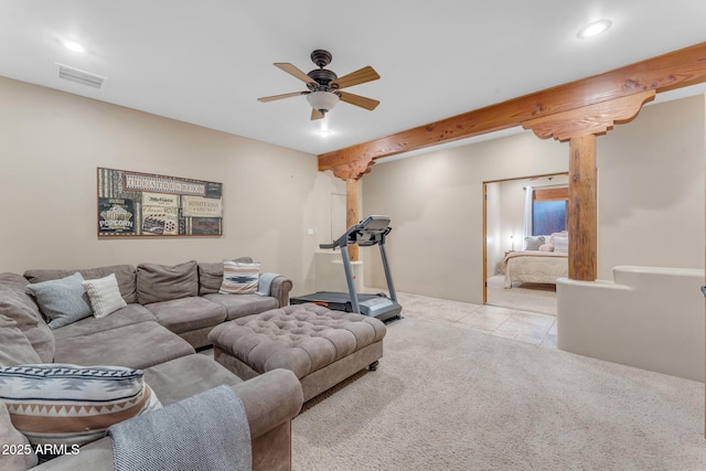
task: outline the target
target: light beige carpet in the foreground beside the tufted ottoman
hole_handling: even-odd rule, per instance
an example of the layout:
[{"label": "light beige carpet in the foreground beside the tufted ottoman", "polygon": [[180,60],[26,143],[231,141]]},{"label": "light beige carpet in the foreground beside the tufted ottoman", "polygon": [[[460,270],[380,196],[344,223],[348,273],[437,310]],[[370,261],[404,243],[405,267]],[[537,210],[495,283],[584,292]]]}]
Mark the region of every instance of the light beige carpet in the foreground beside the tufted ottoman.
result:
[{"label": "light beige carpet in the foreground beside the tufted ottoman", "polygon": [[705,470],[703,417],[703,383],[405,318],[295,418],[293,469]]}]

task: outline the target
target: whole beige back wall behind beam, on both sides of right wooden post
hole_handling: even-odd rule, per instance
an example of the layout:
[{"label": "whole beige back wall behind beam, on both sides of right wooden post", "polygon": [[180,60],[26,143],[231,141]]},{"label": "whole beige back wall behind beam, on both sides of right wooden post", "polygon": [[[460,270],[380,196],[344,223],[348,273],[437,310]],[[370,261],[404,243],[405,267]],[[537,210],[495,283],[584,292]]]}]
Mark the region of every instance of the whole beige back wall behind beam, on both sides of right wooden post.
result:
[{"label": "whole beige back wall behind beam, on both sides of right wooden post", "polygon": [[[617,265],[704,267],[704,96],[645,107],[598,138],[599,278]],[[482,182],[568,170],[530,132],[376,164],[364,213],[388,214],[399,291],[482,302]],[[367,285],[383,288],[377,257]]]}]

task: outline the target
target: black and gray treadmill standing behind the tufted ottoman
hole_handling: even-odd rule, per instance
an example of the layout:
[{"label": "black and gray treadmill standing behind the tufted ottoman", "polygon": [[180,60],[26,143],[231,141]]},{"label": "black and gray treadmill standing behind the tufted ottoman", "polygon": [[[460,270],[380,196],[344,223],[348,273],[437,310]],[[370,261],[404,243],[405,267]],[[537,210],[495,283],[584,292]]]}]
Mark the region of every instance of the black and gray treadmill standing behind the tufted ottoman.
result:
[{"label": "black and gray treadmill standing behind the tufted ottoman", "polygon": [[[388,216],[372,215],[349,228],[341,237],[331,244],[319,245],[320,248],[341,249],[349,292],[319,291],[312,295],[290,298],[289,302],[291,304],[313,302],[314,304],[324,306],[336,311],[356,312],[359,314],[377,318],[383,322],[402,319],[402,306],[397,302],[397,293],[395,292],[389,264],[387,263],[387,254],[385,253],[385,237],[391,231],[392,227],[389,227]],[[357,244],[359,247],[379,246],[379,255],[383,260],[383,268],[385,269],[389,298],[385,293],[359,295],[356,292],[353,280],[353,269],[351,268],[351,260],[349,258],[347,246],[350,244]]]}]

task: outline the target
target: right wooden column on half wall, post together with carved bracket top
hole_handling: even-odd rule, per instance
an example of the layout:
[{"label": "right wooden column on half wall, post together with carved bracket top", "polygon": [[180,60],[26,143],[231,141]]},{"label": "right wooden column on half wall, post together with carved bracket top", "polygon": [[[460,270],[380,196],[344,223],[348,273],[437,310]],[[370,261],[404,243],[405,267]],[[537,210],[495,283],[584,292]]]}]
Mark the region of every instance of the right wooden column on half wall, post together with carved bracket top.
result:
[{"label": "right wooden column on half wall, post together with carved bracket top", "polygon": [[569,141],[569,278],[598,278],[598,186],[596,136],[616,122],[632,120],[654,90],[642,92],[570,111],[524,121],[525,129],[546,139]]}]

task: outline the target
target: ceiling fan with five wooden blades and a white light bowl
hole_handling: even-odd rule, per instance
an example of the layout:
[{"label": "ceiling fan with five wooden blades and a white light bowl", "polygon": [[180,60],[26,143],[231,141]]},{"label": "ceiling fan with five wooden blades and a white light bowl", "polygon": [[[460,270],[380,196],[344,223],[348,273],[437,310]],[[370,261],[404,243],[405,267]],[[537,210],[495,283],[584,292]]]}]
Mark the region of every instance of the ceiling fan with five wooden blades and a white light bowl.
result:
[{"label": "ceiling fan with five wooden blades and a white light bowl", "polygon": [[379,75],[370,65],[352,72],[347,75],[339,77],[333,72],[323,68],[331,63],[333,55],[329,51],[315,50],[311,53],[311,61],[317,64],[319,68],[304,74],[292,64],[286,62],[276,62],[275,66],[281,68],[289,75],[299,78],[307,84],[306,92],[293,92],[282,95],[274,95],[258,98],[258,101],[274,101],[282,98],[290,98],[292,96],[306,95],[307,101],[311,105],[311,119],[321,119],[329,113],[339,100],[349,103],[351,105],[360,106],[368,110],[375,109],[379,101],[372,98],[366,98],[360,95],[353,95],[347,92],[341,92],[342,88],[352,87],[353,85],[364,84],[366,82],[376,81]]}]

